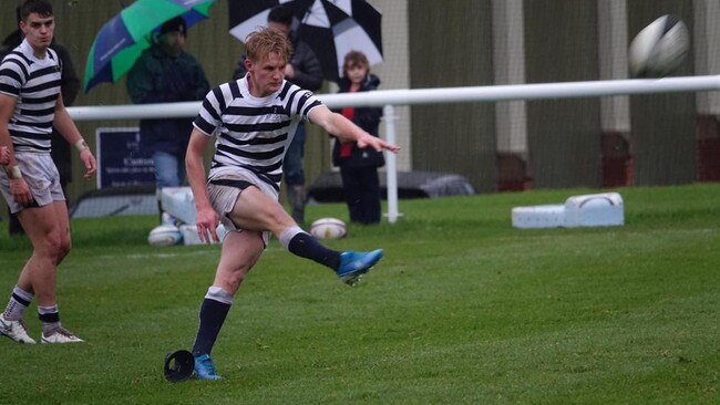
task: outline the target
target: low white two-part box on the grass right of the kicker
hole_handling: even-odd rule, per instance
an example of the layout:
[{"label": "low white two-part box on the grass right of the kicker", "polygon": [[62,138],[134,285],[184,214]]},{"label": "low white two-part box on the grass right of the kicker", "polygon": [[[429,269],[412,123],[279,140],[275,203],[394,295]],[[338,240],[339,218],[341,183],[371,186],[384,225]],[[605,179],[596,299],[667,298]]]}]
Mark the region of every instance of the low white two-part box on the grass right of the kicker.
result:
[{"label": "low white two-part box on the grass right of the kicker", "polygon": [[515,228],[609,227],[625,224],[623,197],[617,193],[573,196],[564,205],[515,207]]}]

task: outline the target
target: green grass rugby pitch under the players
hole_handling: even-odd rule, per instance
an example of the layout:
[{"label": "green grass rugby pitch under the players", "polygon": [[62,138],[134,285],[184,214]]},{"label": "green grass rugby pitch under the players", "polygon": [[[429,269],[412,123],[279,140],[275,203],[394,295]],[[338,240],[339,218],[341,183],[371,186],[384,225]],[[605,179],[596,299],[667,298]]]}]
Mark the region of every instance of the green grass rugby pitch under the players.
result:
[{"label": "green grass rugby pitch under the players", "polygon": [[[192,345],[218,247],[152,248],[154,217],[74,220],[59,304],[86,343],[0,340],[0,404],[720,403],[720,185],[620,189],[624,227],[511,226],[512,207],[585,193],[403,200],[398,224],[328,243],[385,249],[357,288],[274,240],[216,383],[162,364]],[[0,224],[2,308],[29,252]]]}]

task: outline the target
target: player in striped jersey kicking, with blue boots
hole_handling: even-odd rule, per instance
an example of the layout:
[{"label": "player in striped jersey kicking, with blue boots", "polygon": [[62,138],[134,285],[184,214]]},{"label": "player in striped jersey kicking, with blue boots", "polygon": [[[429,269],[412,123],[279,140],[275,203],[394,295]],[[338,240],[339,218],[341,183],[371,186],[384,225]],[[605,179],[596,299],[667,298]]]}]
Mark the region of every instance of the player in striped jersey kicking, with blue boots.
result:
[{"label": "player in striped jersey kicking, with blue boots", "polygon": [[[357,142],[359,147],[393,153],[400,149],[331,112],[312,92],[286,81],[291,45],[282,32],[263,28],[250,33],[245,44],[248,73],[207,94],[193,123],[185,158],[200,240],[219,241],[218,222],[228,230],[215,280],[199,310],[193,346],[195,373],[203,380],[220,378],[210,351],[235,293],[259,260],[270,233],[292,255],[330,268],[349,285],[383,256],[382,249],[330,250],[304,231],[280,206],[282,158],[298,123],[309,121],[333,136]],[[203,156],[214,134],[215,155],[206,176]]]}]

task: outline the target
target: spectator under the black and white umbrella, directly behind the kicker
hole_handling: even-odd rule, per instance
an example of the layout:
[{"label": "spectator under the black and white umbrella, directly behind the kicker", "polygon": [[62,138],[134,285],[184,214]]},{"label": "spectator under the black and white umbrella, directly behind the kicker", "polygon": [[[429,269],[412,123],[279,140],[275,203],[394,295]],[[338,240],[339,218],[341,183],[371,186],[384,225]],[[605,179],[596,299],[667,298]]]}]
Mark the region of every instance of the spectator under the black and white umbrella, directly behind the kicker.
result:
[{"label": "spectator under the black and white umbrella, directly behind the kicker", "polygon": [[[294,53],[285,66],[285,79],[297,84],[301,89],[316,92],[322,86],[322,66],[310,46],[302,42],[297,32],[292,31],[292,11],[278,6],[268,14],[268,27],[285,33],[292,44]],[[243,79],[245,69],[245,55],[237,62],[234,80]],[[302,156],[305,155],[305,123],[298,125],[295,137],[288,146],[282,164],[287,196],[292,209],[292,219],[298,224],[305,222],[305,170],[302,169]]]}]

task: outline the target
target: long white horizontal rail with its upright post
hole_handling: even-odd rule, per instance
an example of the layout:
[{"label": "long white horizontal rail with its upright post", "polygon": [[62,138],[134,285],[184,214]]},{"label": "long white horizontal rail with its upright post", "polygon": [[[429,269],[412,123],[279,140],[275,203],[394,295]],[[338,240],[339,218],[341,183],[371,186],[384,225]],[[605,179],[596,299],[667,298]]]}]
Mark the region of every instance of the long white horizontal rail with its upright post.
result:
[{"label": "long white horizontal rail with its upright post", "polygon": [[[369,93],[318,94],[330,108],[343,106],[383,106],[385,139],[395,143],[395,105],[498,102],[513,100],[582,98],[611,95],[704,92],[720,90],[720,75],[632,79],[592,82],[562,82],[472,87],[416,90],[378,90]],[[143,120],[194,117],[200,102],[76,106],[69,107],[75,121]],[[387,154],[388,221],[400,216],[398,207],[398,172],[393,154]]]}]

